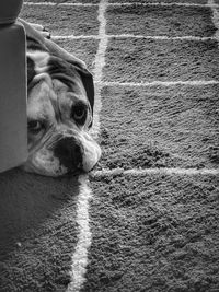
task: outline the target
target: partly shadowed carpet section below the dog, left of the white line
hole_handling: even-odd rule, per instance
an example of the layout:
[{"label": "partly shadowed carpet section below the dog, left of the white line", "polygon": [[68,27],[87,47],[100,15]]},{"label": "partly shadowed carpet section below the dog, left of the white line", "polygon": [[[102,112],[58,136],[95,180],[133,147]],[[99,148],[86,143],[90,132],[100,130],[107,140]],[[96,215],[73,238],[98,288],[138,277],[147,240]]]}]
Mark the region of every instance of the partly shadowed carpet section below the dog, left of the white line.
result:
[{"label": "partly shadowed carpet section below the dog, left of the white line", "polygon": [[0,291],[62,291],[77,244],[78,177],[0,175]]}]

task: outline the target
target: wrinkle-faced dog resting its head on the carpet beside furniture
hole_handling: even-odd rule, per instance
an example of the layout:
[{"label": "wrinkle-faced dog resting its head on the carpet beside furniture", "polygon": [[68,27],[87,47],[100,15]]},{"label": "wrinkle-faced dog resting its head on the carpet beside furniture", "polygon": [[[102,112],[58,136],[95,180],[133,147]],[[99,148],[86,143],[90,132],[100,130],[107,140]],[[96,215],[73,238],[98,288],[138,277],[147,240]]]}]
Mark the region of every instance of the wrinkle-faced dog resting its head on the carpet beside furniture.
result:
[{"label": "wrinkle-faced dog resting its head on the carpet beside furniture", "polygon": [[24,170],[48,176],[89,172],[101,149],[92,126],[94,85],[83,61],[19,20],[27,39],[28,159]]}]

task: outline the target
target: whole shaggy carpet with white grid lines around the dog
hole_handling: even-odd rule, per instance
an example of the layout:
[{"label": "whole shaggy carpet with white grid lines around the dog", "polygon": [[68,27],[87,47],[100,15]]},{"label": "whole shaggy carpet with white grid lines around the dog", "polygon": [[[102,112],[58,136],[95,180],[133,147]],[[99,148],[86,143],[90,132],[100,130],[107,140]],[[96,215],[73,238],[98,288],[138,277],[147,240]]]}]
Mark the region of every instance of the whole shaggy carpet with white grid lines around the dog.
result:
[{"label": "whole shaggy carpet with white grid lines around the dog", "polygon": [[219,1],[43,2],[21,16],[93,71],[103,155],[0,175],[0,292],[218,292]]}]

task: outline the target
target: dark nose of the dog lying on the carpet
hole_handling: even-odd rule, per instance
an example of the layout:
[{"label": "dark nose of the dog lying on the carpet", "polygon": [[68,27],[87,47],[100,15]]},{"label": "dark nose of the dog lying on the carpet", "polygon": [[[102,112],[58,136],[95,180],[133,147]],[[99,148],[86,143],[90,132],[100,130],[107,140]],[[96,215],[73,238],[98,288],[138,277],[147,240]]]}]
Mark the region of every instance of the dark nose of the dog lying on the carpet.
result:
[{"label": "dark nose of the dog lying on the carpet", "polygon": [[82,167],[81,148],[72,137],[62,138],[58,141],[54,154],[59,159],[60,164],[66,166],[69,171]]}]

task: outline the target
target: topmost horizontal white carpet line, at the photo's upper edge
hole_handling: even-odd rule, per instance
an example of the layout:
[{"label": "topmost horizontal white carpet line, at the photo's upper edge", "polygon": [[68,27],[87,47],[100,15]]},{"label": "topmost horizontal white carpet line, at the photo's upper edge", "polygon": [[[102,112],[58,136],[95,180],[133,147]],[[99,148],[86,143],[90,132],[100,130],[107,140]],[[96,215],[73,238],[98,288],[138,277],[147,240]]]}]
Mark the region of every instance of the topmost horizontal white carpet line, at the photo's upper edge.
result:
[{"label": "topmost horizontal white carpet line, at the photo's upper edge", "polygon": [[[55,5],[58,5],[58,7],[97,7],[99,4],[96,3],[56,3],[56,2],[24,2],[24,5],[51,5],[51,7],[55,7]],[[198,3],[182,3],[182,2],[171,2],[171,3],[165,3],[165,2],[149,2],[149,3],[141,3],[141,2],[117,2],[117,3],[108,3],[107,5],[110,7],[122,7],[122,5],[127,5],[127,7],[130,7],[130,5],[143,5],[143,7],[150,7],[150,5],[153,5],[153,7],[173,7],[173,5],[176,5],[176,7],[191,7],[191,8],[208,8],[208,7],[214,7],[214,8],[219,8],[219,4],[198,4]]]}]

